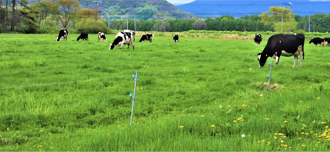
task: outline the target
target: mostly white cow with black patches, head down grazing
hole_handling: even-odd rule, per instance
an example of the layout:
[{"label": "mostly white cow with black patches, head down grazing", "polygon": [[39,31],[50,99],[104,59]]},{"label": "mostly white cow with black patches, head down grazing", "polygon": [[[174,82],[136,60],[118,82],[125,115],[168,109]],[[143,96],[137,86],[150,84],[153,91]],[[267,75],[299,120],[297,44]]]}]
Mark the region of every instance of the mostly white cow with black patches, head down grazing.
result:
[{"label": "mostly white cow with black patches, head down grazing", "polygon": [[110,44],[109,50],[113,50],[116,45],[119,45],[119,48],[124,44],[127,44],[127,49],[129,48],[129,45],[131,44],[134,49],[134,36],[135,32],[132,30],[123,30],[119,33],[117,33],[116,38],[112,44]]}]

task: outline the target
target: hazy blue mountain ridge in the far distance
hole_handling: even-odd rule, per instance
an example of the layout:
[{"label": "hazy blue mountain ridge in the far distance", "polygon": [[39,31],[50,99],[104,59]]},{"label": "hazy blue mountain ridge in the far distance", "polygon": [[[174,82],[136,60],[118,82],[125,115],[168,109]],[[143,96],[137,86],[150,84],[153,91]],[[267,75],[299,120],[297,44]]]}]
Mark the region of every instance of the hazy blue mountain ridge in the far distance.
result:
[{"label": "hazy blue mountain ridge in the far distance", "polygon": [[306,0],[196,0],[177,7],[182,11],[196,15],[232,15],[241,17],[244,15],[261,14],[269,11],[271,6],[289,5],[283,3],[291,2],[292,11],[300,16],[314,15],[315,13],[330,14],[330,1],[306,1]]}]

